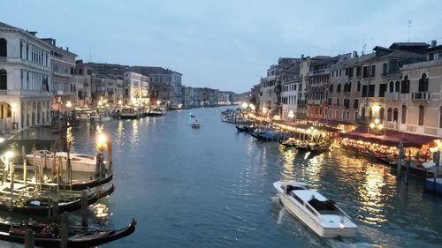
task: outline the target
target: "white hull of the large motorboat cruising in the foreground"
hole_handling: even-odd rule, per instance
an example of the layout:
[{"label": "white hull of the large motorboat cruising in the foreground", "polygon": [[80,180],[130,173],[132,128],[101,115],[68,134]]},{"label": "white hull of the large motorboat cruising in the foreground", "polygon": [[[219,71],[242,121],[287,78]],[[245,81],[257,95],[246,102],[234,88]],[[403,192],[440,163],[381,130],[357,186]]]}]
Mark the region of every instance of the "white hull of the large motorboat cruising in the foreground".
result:
[{"label": "white hull of the large motorboat cruising in the foreground", "polygon": [[309,211],[305,206],[301,205],[301,203],[294,200],[292,196],[286,194],[286,192],[280,189],[280,184],[277,184],[278,183],[275,183],[274,185],[278,190],[279,202],[288,212],[301,220],[301,222],[312,229],[318,236],[326,238],[354,237],[356,234],[357,226],[347,217],[342,218],[338,215],[334,216],[327,214],[327,220],[333,220],[335,223],[331,224],[330,222],[324,222],[321,216],[318,217],[313,212]]}]

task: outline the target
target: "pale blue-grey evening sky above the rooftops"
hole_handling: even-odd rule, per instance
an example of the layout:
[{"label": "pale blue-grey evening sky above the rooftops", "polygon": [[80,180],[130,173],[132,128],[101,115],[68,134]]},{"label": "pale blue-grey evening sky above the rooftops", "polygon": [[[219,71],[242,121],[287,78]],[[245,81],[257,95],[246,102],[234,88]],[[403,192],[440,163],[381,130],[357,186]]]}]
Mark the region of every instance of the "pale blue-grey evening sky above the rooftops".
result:
[{"label": "pale blue-grey evening sky above the rooftops", "polygon": [[85,62],[162,66],[182,73],[183,85],[235,93],[279,57],[442,43],[439,0],[2,0],[0,21]]}]

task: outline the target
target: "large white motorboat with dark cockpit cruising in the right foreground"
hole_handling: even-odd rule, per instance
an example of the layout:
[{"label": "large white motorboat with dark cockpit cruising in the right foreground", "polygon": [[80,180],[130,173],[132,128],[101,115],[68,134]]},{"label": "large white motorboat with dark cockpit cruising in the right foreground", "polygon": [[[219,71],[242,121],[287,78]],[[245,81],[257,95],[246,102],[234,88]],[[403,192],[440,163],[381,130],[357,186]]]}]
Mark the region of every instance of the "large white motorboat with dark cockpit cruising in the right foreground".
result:
[{"label": "large white motorboat with dark cockpit cruising in the right foreground", "polygon": [[336,204],[295,181],[276,182],[279,202],[320,237],[354,237],[357,226]]}]

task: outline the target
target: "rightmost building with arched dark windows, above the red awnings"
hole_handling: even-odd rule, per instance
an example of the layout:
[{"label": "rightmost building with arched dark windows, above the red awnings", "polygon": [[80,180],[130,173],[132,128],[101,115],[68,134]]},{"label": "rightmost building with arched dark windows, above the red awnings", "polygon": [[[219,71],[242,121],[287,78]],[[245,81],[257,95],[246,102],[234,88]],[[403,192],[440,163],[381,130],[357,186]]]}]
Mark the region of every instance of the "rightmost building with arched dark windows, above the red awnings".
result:
[{"label": "rightmost building with arched dark windows, above the red awnings", "polygon": [[402,132],[442,136],[442,46],[425,51],[426,61],[400,68],[401,80],[390,81],[385,125]]}]

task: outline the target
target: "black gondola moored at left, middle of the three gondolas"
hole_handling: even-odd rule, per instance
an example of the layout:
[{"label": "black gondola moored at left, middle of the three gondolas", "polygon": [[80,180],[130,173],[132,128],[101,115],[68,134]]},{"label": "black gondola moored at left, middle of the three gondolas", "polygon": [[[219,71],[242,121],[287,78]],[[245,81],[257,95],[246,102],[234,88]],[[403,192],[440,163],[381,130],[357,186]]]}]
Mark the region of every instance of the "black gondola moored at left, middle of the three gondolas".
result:
[{"label": "black gondola moored at left, middle of the three gondolas", "polygon": [[[90,192],[87,196],[88,205],[94,204],[98,199],[102,199],[105,196],[110,195],[115,190],[113,184],[106,190],[96,192]],[[74,192],[71,198],[67,199],[58,199],[58,213],[63,212],[72,212],[81,208],[81,196],[80,192]],[[4,212],[13,212],[17,214],[29,214],[29,215],[38,215],[44,216],[48,215],[51,210],[53,210],[53,196],[40,196],[34,198],[28,198],[24,200],[17,200],[19,196],[14,196],[16,201],[11,206],[11,201],[9,199],[9,195],[4,192],[4,196],[2,196],[2,200],[0,200],[0,211]]]}]

